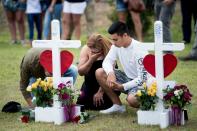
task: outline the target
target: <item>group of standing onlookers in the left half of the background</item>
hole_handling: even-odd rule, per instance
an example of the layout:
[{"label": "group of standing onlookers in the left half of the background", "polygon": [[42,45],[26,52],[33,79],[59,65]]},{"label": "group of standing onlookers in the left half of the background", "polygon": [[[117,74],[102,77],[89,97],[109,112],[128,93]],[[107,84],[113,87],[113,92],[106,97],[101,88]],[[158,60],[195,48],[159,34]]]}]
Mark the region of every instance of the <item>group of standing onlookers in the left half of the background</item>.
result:
[{"label": "group of standing onlookers in the left half of the background", "polygon": [[[32,43],[33,39],[50,39],[50,23],[60,21],[61,39],[80,39],[81,16],[86,15],[88,35],[94,30],[95,2],[99,0],[14,0],[13,10],[2,1],[11,33],[11,44]],[[25,16],[28,23],[28,41],[25,41]],[[36,27],[36,33],[34,32]],[[18,28],[17,28],[18,27]],[[17,39],[17,29],[20,38]],[[34,37],[37,34],[37,38]],[[42,37],[43,36],[43,37]]]}]

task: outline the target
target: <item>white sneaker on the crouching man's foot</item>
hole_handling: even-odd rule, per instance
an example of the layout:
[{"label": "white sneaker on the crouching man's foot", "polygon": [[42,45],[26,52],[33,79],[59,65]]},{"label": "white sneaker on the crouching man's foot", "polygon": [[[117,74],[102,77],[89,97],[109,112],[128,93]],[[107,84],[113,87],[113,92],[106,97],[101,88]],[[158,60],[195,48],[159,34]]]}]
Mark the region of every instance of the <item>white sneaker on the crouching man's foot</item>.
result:
[{"label": "white sneaker on the crouching man's foot", "polygon": [[102,114],[111,114],[111,113],[123,113],[126,111],[126,108],[124,105],[117,105],[117,104],[113,104],[112,107],[106,109],[106,110],[101,110],[100,113]]}]

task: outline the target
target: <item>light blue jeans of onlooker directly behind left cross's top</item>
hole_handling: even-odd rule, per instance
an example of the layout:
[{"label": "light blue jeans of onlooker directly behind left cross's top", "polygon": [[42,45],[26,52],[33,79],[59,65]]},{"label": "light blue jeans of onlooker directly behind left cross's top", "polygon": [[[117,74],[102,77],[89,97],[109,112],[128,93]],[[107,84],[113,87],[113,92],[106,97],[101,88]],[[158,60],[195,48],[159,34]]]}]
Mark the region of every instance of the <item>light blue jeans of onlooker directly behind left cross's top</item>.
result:
[{"label": "light blue jeans of onlooker directly behind left cross's top", "polygon": [[50,29],[51,29],[50,25],[53,19],[57,19],[60,21],[60,32],[62,31],[61,13],[62,13],[62,4],[55,4],[53,12],[50,12],[49,10],[46,11],[46,14],[44,17],[44,29],[43,29],[44,39],[47,39],[49,36]]}]

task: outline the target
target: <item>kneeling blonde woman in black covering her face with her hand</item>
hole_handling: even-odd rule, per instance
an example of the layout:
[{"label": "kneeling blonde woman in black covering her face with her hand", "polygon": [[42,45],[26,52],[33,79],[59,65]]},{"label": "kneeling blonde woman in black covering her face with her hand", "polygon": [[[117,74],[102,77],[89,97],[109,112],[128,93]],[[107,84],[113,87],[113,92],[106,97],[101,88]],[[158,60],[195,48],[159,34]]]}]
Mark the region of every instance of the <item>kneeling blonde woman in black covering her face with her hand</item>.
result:
[{"label": "kneeling blonde woman in black covering her face with her hand", "polygon": [[81,95],[77,104],[84,105],[85,109],[102,110],[111,107],[113,104],[104,94],[95,77],[95,72],[102,67],[102,62],[111,45],[112,43],[106,37],[93,34],[89,37],[87,45],[84,45],[81,50],[78,73],[84,76],[85,81],[82,84]]}]

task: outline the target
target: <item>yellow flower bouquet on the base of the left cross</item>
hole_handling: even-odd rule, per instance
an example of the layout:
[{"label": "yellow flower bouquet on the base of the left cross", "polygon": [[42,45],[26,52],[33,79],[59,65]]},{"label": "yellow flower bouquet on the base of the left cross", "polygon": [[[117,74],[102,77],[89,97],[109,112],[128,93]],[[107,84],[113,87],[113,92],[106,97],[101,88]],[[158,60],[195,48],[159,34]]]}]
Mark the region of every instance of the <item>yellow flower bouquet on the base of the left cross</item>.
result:
[{"label": "yellow flower bouquet on the base of the left cross", "polygon": [[44,80],[37,79],[32,85],[27,87],[27,91],[31,92],[33,97],[33,103],[37,106],[48,107],[52,106],[53,98],[53,82],[51,77],[47,77]]}]

